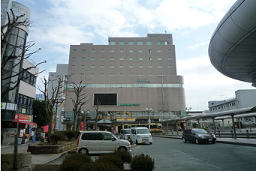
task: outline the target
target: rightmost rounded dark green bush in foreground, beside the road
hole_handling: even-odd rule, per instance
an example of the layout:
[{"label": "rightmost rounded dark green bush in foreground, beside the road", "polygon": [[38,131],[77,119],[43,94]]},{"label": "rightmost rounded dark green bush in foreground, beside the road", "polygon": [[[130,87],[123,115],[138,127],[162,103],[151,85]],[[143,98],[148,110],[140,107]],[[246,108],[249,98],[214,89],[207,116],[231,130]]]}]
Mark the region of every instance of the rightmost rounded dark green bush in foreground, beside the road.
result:
[{"label": "rightmost rounded dark green bush in foreground, beside the road", "polygon": [[152,171],[155,161],[149,155],[137,154],[131,159],[131,171]]}]

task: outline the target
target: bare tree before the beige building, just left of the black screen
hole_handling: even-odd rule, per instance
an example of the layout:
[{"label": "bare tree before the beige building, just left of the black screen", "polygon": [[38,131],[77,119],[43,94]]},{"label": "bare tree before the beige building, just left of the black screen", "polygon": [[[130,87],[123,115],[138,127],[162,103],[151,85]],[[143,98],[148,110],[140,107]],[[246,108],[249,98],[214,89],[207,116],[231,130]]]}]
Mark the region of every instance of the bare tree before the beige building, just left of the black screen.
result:
[{"label": "bare tree before the beige building, just left of the black screen", "polygon": [[68,88],[68,92],[74,93],[74,96],[71,97],[71,101],[74,106],[74,130],[77,130],[77,115],[81,111],[83,105],[86,104],[90,99],[86,80],[82,80],[81,78],[79,84],[72,82]]}]

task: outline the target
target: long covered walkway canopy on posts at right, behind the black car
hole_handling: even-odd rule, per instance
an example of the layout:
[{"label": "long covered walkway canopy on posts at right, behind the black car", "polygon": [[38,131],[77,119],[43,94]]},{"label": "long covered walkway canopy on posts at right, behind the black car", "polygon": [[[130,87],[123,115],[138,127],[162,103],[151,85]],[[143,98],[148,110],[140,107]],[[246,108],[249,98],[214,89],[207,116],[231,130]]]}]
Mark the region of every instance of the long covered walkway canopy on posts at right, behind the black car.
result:
[{"label": "long covered walkway canopy on posts at right, behind the black car", "polygon": [[[214,134],[216,134],[216,129],[215,129],[215,120],[222,120],[224,119],[232,119],[232,125],[235,125],[234,118],[243,118],[246,116],[253,116],[256,117],[256,106],[255,107],[245,107],[242,109],[238,110],[227,110],[223,112],[218,112],[218,113],[204,113],[201,115],[194,115],[194,116],[185,116],[185,117],[180,117],[180,118],[170,118],[165,121],[161,121],[161,123],[166,123],[167,124],[167,130],[168,130],[168,124],[176,124],[176,131],[178,134],[178,122],[179,121],[191,121],[191,120],[197,120],[198,122],[198,127],[200,127],[200,119],[203,118],[212,118],[212,123],[213,123],[213,130]],[[188,124],[186,124],[188,128]],[[233,133],[234,133],[234,138],[236,139],[236,128],[233,126]]]}]

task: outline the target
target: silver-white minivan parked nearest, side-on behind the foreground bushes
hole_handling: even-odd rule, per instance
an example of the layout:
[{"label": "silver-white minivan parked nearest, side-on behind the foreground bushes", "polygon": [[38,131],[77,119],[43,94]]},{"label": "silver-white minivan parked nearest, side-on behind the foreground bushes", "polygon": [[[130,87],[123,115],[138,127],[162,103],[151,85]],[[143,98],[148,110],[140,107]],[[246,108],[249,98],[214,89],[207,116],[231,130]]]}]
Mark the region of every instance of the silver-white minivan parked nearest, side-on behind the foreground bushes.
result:
[{"label": "silver-white minivan parked nearest, side-on behind the foreground bushes", "polygon": [[105,154],[116,149],[131,151],[131,144],[108,131],[80,131],[77,139],[77,152],[80,154]]}]

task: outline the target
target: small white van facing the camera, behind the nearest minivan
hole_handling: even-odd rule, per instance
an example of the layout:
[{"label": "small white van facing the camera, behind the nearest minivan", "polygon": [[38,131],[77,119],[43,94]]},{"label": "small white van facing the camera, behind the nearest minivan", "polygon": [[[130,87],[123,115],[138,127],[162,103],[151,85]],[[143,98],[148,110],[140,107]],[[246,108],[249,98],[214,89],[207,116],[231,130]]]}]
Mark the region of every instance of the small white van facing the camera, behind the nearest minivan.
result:
[{"label": "small white van facing the camera, behind the nearest minivan", "polygon": [[131,142],[135,142],[136,144],[153,143],[152,135],[149,133],[149,129],[147,127],[131,127]]}]

